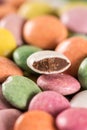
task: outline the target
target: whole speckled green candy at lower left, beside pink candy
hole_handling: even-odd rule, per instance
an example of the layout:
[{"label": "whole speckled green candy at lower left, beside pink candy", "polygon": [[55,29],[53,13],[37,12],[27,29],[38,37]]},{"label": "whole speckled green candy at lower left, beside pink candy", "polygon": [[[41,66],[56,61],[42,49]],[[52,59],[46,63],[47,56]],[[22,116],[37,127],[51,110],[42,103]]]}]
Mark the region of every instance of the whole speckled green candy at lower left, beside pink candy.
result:
[{"label": "whole speckled green candy at lower left, beside pink candy", "polygon": [[6,100],[14,107],[25,110],[31,98],[41,92],[40,88],[24,76],[10,76],[2,84]]}]

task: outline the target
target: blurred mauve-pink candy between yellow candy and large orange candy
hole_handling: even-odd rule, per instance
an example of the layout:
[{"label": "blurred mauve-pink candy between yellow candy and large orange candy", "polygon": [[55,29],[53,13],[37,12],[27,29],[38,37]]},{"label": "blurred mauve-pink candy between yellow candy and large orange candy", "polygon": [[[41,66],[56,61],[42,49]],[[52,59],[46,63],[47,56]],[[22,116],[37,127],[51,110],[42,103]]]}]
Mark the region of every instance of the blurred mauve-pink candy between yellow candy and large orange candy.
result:
[{"label": "blurred mauve-pink candy between yellow candy and large orange candy", "polygon": [[13,34],[16,40],[16,44],[18,46],[23,44],[22,28],[23,28],[24,22],[25,20],[21,18],[19,15],[17,15],[16,13],[11,13],[7,15],[0,22],[1,27],[6,28]]}]

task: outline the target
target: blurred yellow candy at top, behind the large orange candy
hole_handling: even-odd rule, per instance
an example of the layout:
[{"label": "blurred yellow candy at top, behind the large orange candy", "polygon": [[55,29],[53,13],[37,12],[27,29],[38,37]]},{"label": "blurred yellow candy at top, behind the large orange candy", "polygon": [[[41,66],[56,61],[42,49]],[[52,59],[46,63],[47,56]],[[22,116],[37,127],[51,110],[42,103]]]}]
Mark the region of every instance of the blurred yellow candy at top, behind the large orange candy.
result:
[{"label": "blurred yellow candy at top, behind the large orange candy", "polygon": [[56,15],[56,10],[46,3],[26,2],[20,6],[18,14],[23,18],[32,19],[44,14]]}]

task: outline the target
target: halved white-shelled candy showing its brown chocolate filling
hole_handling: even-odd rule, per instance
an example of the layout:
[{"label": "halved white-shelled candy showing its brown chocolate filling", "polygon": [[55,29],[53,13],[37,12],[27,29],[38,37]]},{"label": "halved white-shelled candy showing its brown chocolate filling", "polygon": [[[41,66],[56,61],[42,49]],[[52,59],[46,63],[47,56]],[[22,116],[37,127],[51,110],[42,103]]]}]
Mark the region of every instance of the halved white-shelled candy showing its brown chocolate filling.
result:
[{"label": "halved white-shelled candy showing its brown chocolate filling", "polygon": [[27,65],[40,74],[55,74],[67,70],[71,63],[67,57],[51,50],[36,52],[27,58]]}]

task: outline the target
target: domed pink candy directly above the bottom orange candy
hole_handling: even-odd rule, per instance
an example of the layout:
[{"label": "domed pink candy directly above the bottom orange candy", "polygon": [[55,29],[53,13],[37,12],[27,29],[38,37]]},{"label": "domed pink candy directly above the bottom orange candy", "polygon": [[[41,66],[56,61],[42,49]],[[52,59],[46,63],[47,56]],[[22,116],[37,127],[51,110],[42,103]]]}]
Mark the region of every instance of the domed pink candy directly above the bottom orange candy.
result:
[{"label": "domed pink candy directly above the bottom orange candy", "polygon": [[29,104],[30,110],[42,110],[56,116],[70,107],[69,101],[61,94],[54,91],[45,91],[32,98]]}]

